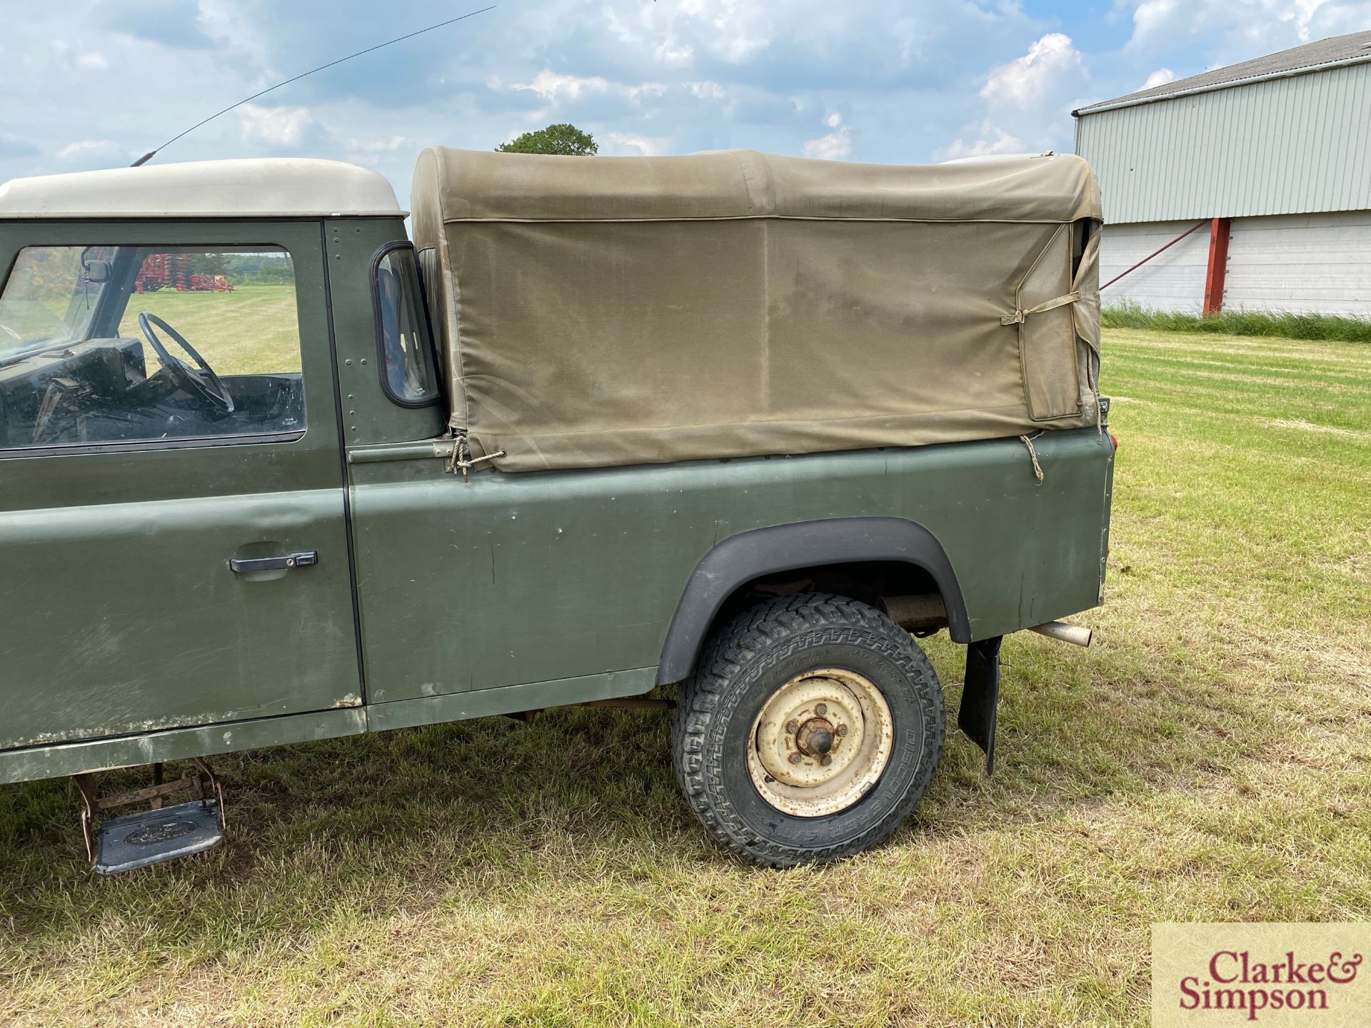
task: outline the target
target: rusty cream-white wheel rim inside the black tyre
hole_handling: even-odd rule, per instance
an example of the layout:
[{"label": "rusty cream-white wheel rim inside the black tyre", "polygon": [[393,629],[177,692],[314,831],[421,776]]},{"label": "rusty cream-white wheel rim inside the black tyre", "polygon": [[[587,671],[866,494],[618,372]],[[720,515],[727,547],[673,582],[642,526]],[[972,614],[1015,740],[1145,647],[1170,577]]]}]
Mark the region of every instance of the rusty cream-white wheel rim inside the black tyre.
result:
[{"label": "rusty cream-white wheel rim inside the black tyre", "polygon": [[890,705],[871,680],[820,668],[768,698],[749,740],[747,773],[761,798],[786,814],[823,817],[876,784],[895,733]]}]

